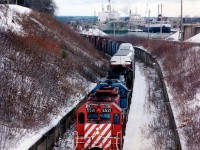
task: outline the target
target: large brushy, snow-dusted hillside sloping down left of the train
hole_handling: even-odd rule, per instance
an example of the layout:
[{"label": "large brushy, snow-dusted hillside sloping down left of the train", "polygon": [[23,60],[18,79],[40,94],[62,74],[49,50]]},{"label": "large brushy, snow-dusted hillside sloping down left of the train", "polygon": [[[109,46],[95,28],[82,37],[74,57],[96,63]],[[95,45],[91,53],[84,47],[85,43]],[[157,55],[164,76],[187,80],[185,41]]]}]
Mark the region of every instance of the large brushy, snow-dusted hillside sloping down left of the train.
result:
[{"label": "large brushy, snow-dusted hillside sloping down left of the train", "polygon": [[106,56],[54,18],[0,5],[1,149],[27,150],[107,68]]}]

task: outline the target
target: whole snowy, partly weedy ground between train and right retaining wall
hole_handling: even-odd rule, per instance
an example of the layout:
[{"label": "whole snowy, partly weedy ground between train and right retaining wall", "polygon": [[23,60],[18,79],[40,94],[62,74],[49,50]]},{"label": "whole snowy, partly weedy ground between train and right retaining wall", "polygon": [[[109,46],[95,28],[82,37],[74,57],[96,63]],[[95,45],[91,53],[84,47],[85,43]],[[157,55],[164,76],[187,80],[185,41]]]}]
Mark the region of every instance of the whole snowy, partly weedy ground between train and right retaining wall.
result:
[{"label": "whole snowy, partly weedy ground between train and right retaining wall", "polygon": [[176,139],[158,74],[140,63],[136,63],[135,74],[123,150],[175,150]]}]

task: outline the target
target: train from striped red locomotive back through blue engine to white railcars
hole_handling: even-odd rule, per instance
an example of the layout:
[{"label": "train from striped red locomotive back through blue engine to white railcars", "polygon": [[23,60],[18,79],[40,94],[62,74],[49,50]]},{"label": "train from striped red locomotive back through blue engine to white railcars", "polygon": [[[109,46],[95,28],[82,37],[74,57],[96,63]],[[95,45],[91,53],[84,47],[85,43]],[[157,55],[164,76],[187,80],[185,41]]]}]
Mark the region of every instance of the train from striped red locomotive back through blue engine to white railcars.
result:
[{"label": "train from striped red locomotive back through blue engine to white railcars", "polygon": [[107,77],[76,111],[75,150],[122,150],[134,74],[134,48],[122,43]]}]

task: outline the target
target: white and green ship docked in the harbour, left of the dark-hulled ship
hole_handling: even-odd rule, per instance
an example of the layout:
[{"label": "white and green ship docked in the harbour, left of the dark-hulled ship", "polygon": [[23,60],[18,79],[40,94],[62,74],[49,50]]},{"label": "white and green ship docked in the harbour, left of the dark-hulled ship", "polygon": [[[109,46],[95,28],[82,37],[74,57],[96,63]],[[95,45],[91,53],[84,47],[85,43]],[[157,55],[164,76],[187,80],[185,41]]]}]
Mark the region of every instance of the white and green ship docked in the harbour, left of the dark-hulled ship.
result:
[{"label": "white and green ship docked in the harbour, left of the dark-hulled ship", "polygon": [[110,0],[107,10],[105,11],[102,8],[102,12],[98,13],[98,23],[99,29],[105,33],[118,34],[128,32],[127,22],[120,20],[119,12],[114,9],[111,10]]}]

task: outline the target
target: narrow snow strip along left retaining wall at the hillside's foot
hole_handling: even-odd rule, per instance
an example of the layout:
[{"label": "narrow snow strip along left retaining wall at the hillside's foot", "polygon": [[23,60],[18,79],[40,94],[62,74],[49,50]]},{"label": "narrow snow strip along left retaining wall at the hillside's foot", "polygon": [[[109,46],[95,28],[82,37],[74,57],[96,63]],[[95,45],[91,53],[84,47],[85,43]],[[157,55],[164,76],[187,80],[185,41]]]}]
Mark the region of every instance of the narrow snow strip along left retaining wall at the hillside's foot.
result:
[{"label": "narrow snow strip along left retaining wall at the hillside's foot", "polygon": [[[96,86],[96,83],[91,83],[88,92],[91,91]],[[68,100],[68,104],[63,110],[60,111],[60,113],[57,116],[52,116],[52,121],[49,125],[42,128],[39,131],[35,131],[32,133],[27,133],[26,135],[20,139],[13,147],[12,150],[27,150],[29,149],[33,144],[35,144],[46,132],[48,132],[51,128],[55,127],[59,121],[68,113],[70,112],[76,105],[84,98],[84,95],[76,95],[74,97],[71,97],[72,101]],[[59,149],[60,150],[60,149]]]}]

